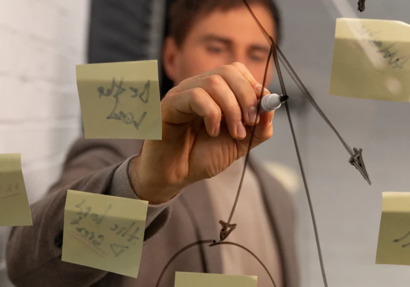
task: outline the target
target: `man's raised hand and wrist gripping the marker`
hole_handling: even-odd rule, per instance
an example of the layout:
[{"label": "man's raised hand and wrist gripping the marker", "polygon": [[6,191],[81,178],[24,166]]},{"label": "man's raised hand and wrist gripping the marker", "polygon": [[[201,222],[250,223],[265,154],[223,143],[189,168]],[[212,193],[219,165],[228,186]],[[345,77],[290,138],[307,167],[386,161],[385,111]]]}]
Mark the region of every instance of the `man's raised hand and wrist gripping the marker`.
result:
[{"label": "man's raised hand and wrist gripping the marker", "polygon": [[146,140],[130,166],[137,196],[162,203],[221,173],[247,153],[255,123],[252,148],[269,139],[274,112],[256,119],[261,88],[244,65],[233,63],[171,89],[161,101],[162,140]]}]

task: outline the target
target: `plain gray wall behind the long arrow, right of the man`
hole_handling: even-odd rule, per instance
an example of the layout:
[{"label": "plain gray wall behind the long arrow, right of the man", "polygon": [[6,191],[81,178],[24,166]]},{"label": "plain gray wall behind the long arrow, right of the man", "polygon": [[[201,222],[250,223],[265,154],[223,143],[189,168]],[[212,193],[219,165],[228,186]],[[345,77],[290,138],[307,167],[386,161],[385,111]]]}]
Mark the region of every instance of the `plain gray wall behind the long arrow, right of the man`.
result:
[{"label": "plain gray wall behind the long arrow, right of the man", "polygon": [[[347,152],[312,108],[293,112],[329,286],[408,286],[410,267],[375,265],[375,256],[382,192],[410,191],[410,104],[329,95],[335,23],[342,15],[332,0],[277,1],[284,20],[281,50],[348,145],[363,149],[373,181],[368,186],[350,166]],[[357,8],[357,0],[334,1]],[[356,11],[356,15],[410,23],[410,1],[367,0],[365,12]],[[289,77],[285,84],[296,91]],[[255,154],[299,171],[285,110],[281,109],[275,114],[274,136]],[[304,189],[296,194],[295,202],[301,285],[323,286]]]}]

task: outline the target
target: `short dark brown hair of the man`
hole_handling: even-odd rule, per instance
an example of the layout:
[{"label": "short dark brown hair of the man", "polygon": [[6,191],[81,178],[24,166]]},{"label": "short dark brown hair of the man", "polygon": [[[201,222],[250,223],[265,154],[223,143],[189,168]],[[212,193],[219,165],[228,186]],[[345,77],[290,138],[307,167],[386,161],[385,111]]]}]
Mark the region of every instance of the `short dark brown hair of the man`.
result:
[{"label": "short dark brown hair of the man", "polygon": [[[247,0],[248,4],[261,4],[267,7],[275,23],[276,43],[281,38],[281,19],[278,8],[273,0]],[[228,11],[238,7],[245,8],[242,0],[174,0],[169,12],[170,36],[181,46],[198,16],[207,16],[210,13]]]}]

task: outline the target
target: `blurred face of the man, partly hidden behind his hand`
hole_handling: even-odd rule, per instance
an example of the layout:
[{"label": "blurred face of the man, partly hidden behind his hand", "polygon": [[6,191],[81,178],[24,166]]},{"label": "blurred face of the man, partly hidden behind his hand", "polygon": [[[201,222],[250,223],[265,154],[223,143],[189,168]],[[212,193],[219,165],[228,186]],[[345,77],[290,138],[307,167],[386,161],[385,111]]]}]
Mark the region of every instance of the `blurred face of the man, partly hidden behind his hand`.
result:
[{"label": "blurred face of the man, partly hidden behind his hand", "polygon": [[[251,5],[251,8],[264,29],[275,39],[270,11],[258,4]],[[244,64],[262,83],[269,51],[267,39],[243,6],[225,12],[217,10],[199,17],[179,48],[173,38],[167,38],[163,64],[175,85],[186,78],[235,61]],[[273,76],[272,60],[269,67],[267,86]]]}]

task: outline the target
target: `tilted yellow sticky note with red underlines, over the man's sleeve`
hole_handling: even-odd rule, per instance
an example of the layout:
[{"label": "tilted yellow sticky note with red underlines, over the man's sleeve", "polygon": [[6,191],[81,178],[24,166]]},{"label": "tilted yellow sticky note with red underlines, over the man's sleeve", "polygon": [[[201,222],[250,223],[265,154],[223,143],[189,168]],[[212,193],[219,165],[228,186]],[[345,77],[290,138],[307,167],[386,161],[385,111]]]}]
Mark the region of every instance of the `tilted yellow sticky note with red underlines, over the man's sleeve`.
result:
[{"label": "tilted yellow sticky note with red underlines, over the man's sleeve", "polygon": [[136,278],[148,201],[69,190],[61,260]]}]

